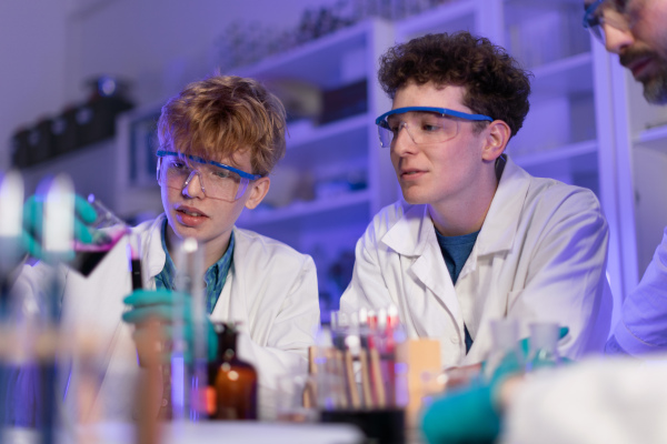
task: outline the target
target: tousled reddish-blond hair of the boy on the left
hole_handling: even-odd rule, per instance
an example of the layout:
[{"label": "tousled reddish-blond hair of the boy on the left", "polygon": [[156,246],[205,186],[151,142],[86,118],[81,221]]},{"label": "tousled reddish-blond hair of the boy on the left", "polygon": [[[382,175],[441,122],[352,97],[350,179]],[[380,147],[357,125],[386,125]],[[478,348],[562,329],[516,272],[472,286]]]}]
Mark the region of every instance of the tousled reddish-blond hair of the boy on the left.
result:
[{"label": "tousled reddish-blond hair of the boy on the left", "polygon": [[285,107],[253,79],[215,74],[163,107],[161,149],[220,161],[249,151],[251,173],[268,175],[285,155]]}]

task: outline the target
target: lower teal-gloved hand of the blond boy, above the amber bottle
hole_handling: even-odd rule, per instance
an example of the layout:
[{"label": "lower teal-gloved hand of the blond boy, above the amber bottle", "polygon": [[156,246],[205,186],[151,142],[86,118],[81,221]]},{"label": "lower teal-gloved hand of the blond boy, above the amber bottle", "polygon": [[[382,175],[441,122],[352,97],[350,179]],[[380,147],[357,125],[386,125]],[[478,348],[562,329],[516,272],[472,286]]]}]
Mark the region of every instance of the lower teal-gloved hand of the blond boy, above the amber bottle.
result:
[{"label": "lower teal-gloved hand of the blond boy, above the amber bottle", "polygon": [[[177,293],[171,290],[136,290],[128,295],[123,302],[131,305],[131,310],[123,313],[122,320],[128,324],[133,324],[135,341],[146,335],[146,327],[149,322],[157,321],[160,325],[160,337],[170,343],[173,339],[173,320],[176,315],[175,301],[177,297],[183,297],[183,339],[188,347],[186,350],[186,361],[192,361],[192,350],[195,343],[195,325],[192,321],[192,299],[185,293]],[[208,360],[213,361],[218,352],[218,336],[213,331],[213,325],[206,319],[206,334],[208,343]],[[170,350],[162,350],[161,362],[169,362]],[[140,356],[141,359],[141,356]]]}]

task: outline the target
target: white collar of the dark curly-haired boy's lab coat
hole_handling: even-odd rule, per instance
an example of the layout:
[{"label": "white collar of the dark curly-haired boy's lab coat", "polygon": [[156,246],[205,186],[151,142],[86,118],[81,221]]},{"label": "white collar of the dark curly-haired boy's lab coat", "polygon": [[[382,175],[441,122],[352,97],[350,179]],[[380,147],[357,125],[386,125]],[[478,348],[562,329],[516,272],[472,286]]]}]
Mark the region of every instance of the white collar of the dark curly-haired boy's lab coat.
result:
[{"label": "white collar of the dark curly-haired boy's lab coat", "polygon": [[[530,175],[504,154],[507,161],[498,189],[476,242],[477,255],[511,250]],[[402,203],[402,216],[382,236],[381,242],[406,256],[420,256],[437,245],[434,223],[427,205]]]}]

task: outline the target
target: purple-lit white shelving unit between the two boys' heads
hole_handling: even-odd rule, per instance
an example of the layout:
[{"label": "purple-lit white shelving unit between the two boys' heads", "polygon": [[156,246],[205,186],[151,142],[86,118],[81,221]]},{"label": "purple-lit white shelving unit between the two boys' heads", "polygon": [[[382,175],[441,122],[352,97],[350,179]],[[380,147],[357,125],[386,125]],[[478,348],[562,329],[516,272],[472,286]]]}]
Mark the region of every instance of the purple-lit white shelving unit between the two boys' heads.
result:
[{"label": "purple-lit white shelving unit between the two boys' heads", "polygon": [[372,215],[398,196],[389,154],[380,150],[375,127],[375,117],[390,107],[377,83],[376,63],[392,43],[390,23],[365,21],[230,72],[269,88],[285,79],[320,91],[366,81],[365,112],[323,124],[317,119],[288,123],[287,153],[271,175],[268,205],[246,211],[237,223],[311,254],[320,294],[334,305],[344,289],[331,279],[332,265],[350,265],[341,261],[354,254]]}]

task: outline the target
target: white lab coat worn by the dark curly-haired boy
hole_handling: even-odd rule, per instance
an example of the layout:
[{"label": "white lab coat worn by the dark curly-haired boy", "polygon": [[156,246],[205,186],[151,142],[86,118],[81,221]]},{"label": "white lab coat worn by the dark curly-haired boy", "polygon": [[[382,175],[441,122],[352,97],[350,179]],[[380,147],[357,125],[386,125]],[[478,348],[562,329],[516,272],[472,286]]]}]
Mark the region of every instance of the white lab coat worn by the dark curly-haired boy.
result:
[{"label": "white lab coat worn by the dark curly-haired boy", "polygon": [[[571,359],[601,351],[611,297],[605,280],[608,229],[595,194],[532,178],[507,160],[477,242],[456,286],[426,205],[382,209],[357,243],[340,306],[398,307],[409,337],[440,340],[442,365],[472,364],[491,349],[489,321],[558,322]],[[464,322],[474,339],[466,355]]]}]

